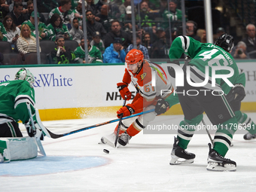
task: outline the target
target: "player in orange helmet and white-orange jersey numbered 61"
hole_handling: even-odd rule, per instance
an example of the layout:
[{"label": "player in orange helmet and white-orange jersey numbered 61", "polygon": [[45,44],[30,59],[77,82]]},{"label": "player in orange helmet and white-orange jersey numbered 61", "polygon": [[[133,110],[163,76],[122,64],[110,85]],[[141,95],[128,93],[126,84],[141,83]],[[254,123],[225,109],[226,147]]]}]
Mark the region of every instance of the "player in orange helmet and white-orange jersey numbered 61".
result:
[{"label": "player in orange helmet and white-orange jersey numbered 61", "polygon": [[[126,69],[123,75],[123,81],[117,83],[117,89],[123,99],[130,100],[132,93],[128,89],[129,84],[132,82],[136,87],[137,94],[133,102],[126,104],[117,111],[117,117],[123,114],[123,117],[130,116],[131,114],[148,111],[155,108],[157,99],[166,98],[173,90],[171,81],[167,79],[166,73],[163,69],[148,60],[144,59],[141,50],[130,50],[125,58]],[[139,117],[132,117],[130,119],[122,120],[120,124],[120,133],[118,143],[125,146],[129,140],[142,131],[148,123],[156,117],[155,112],[142,114]],[[102,143],[114,147],[114,138],[117,134],[117,127],[109,136],[102,137]]]}]

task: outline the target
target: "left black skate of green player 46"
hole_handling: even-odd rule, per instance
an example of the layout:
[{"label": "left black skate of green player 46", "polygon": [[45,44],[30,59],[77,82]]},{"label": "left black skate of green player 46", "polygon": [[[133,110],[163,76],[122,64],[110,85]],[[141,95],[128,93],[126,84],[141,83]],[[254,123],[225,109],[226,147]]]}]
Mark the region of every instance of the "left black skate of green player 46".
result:
[{"label": "left black skate of green player 46", "polygon": [[179,164],[187,164],[194,163],[195,154],[189,153],[185,151],[183,148],[178,146],[178,139],[174,137],[174,144],[171,153],[172,160],[170,161],[170,165],[179,165]]}]

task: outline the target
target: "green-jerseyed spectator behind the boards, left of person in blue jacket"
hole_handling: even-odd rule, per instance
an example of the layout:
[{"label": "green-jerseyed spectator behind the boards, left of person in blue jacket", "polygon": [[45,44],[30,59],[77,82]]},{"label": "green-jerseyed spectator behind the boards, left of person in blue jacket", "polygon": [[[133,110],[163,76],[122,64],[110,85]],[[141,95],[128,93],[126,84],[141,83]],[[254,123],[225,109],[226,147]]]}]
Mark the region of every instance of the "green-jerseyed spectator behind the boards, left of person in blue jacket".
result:
[{"label": "green-jerseyed spectator behind the boards, left of person in blue jacket", "polygon": [[[102,63],[102,53],[98,47],[90,45],[92,38],[87,36],[88,63]],[[81,39],[81,46],[75,49],[75,56],[79,63],[87,63],[85,60],[84,38]]]}]

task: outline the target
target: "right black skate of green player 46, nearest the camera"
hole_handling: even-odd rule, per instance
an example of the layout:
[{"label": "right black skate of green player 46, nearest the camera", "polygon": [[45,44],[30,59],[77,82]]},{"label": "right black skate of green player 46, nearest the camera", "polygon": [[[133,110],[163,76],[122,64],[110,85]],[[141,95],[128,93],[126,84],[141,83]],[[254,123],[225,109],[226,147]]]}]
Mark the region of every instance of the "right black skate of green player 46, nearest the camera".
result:
[{"label": "right black skate of green player 46, nearest the camera", "polygon": [[236,171],[236,162],[230,159],[226,159],[221,154],[218,154],[217,151],[211,148],[209,143],[209,156],[208,156],[208,166],[206,167],[209,171],[216,172],[235,172]]}]

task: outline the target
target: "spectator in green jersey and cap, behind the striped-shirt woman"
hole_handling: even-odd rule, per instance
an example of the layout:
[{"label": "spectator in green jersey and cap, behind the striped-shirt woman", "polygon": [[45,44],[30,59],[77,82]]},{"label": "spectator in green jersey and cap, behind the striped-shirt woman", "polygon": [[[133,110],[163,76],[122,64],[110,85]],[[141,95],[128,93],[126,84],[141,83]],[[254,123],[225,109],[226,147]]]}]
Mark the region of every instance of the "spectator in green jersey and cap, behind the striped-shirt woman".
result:
[{"label": "spectator in green jersey and cap, behind the striped-shirt woman", "polygon": [[[40,19],[39,13],[37,13],[36,15],[38,17],[39,40],[48,40],[51,33],[47,28],[47,26],[44,23],[41,23],[41,21],[39,20]],[[35,37],[35,18],[34,17],[35,17],[35,12],[32,11],[30,15],[30,20],[26,20],[24,23],[26,23],[29,26],[31,30],[31,35]]]}]

